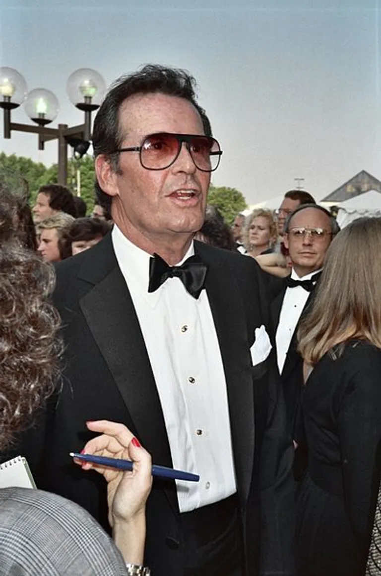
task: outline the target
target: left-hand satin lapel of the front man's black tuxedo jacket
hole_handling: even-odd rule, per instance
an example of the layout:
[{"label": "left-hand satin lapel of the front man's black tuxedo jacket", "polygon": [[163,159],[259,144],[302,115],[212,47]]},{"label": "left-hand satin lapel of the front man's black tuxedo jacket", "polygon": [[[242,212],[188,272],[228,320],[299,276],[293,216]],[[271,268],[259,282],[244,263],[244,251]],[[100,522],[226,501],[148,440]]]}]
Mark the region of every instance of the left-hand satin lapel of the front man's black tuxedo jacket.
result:
[{"label": "left-hand satin lapel of the front man's black tuxedo jacket", "polygon": [[[164,416],[147,349],[112,247],[109,258],[114,266],[82,298],[80,307],[126,404],[139,439],[155,463],[171,467]],[[93,273],[89,274],[88,270],[82,270],[80,274],[82,279],[91,282],[89,275]],[[172,506],[178,510],[175,490],[166,492]]]}]

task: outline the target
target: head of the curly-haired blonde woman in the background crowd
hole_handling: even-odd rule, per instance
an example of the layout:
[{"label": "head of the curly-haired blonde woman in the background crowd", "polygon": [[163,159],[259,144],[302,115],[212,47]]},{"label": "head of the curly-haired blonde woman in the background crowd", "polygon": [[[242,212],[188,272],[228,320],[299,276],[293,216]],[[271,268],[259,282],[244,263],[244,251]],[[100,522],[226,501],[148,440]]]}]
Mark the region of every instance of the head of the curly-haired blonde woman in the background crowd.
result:
[{"label": "head of the curly-haired blonde woman in the background crowd", "polygon": [[276,241],[276,225],[271,210],[253,210],[245,220],[242,238],[249,256],[271,253]]}]

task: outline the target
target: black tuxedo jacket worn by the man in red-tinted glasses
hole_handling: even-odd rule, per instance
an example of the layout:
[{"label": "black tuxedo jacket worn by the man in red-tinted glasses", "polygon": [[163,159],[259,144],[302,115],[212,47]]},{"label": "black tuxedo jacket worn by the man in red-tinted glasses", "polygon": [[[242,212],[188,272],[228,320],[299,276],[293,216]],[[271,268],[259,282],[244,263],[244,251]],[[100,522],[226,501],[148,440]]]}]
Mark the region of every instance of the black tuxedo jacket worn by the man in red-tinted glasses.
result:
[{"label": "black tuxedo jacket worn by the man in red-tinted glasses", "polygon": [[[228,392],[234,467],[248,574],[291,574],[293,450],[274,358],[252,366],[255,328],[267,324],[261,272],[252,258],[195,242],[208,264],[206,290]],[[63,323],[63,381],[16,451],[37,485],[78,502],[105,528],[106,487],[69,452],[92,437],[86,420],[123,422],[156,464],[171,466],[163,412],[143,335],[110,234],[60,263],[53,301]],[[260,555],[259,555],[260,552]],[[175,483],[155,478],[147,505],[145,563],[155,576],[183,573]]]}]

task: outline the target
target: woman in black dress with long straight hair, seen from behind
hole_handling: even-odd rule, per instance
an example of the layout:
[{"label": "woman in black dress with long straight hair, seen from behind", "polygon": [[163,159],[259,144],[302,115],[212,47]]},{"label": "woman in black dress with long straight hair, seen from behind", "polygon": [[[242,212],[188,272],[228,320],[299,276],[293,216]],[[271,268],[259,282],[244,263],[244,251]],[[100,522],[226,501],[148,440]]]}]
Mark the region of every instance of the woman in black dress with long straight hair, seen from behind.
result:
[{"label": "woman in black dress with long straight hair, seen from behind", "polygon": [[297,575],[364,574],[379,484],[381,219],[360,218],[330,246],[299,329],[306,385],[297,441]]}]

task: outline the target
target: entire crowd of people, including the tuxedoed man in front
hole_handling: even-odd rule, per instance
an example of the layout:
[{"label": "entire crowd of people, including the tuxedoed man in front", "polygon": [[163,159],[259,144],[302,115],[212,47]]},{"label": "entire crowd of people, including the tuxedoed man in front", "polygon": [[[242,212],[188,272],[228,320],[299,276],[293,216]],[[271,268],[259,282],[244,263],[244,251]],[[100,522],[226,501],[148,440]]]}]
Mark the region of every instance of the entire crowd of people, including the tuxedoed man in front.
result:
[{"label": "entire crowd of people, including the tuxedoed man in front", "polygon": [[381,219],[230,228],[183,70],[118,79],[93,148],[91,217],[0,181],[0,463],[39,488],[0,489],[0,575],[381,574]]}]

